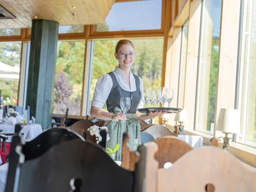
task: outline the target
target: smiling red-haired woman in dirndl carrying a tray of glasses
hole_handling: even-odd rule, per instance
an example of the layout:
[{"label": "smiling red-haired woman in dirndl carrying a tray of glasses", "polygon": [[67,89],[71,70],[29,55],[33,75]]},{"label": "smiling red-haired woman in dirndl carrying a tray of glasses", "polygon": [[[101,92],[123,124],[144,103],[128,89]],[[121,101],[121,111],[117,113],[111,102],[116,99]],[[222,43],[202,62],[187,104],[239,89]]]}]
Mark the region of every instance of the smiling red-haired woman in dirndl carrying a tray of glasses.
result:
[{"label": "smiling red-haired woman in dirndl carrying a tray of glasses", "polygon": [[[143,108],[141,93],[143,82],[140,77],[131,73],[130,67],[135,60],[135,47],[130,40],[119,40],[115,47],[115,58],[119,62],[115,71],[100,77],[97,81],[93,101],[91,104],[91,116],[97,119],[106,119],[110,140],[107,145],[111,149],[122,142],[124,132],[130,134],[130,149],[135,150],[140,144],[139,120],[153,119],[165,112],[150,112],[142,114],[137,108]],[[120,110],[120,98],[130,97],[130,109],[126,116]],[[106,103],[108,112],[101,110]],[[116,160],[121,160],[121,149],[117,150]]]}]

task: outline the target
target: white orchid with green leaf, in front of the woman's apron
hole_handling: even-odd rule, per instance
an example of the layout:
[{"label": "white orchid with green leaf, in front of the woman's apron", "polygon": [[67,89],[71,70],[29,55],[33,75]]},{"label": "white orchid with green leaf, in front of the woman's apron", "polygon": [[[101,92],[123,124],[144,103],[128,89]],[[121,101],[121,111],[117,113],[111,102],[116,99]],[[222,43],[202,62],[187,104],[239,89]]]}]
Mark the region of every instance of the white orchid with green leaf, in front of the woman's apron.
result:
[{"label": "white orchid with green leaf, in front of the woman's apron", "polygon": [[[100,130],[106,130],[106,131],[108,131],[108,128],[106,127],[106,126],[103,126],[103,127],[99,127],[99,126],[97,126],[97,125],[93,125],[93,126],[91,126],[89,129],[89,132],[90,132],[90,134],[93,136],[93,135],[95,135],[95,137],[96,137],[96,142],[97,143],[100,143],[100,141],[102,141],[102,136],[100,135]],[[107,134],[106,135],[106,141],[108,141],[110,139],[110,137],[109,137],[109,135]],[[119,144],[117,144],[117,145],[115,145],[115,147],[113,147],[113,149],[110,149],[110,148],[108,148],[108,147],[106,147],[106,153],[108,154],[108,155],[110,155],[113,159],[115,158],[115,152],[117,152],[117,150],[119,149],[119,147],[120,147],[120,145]]]}]

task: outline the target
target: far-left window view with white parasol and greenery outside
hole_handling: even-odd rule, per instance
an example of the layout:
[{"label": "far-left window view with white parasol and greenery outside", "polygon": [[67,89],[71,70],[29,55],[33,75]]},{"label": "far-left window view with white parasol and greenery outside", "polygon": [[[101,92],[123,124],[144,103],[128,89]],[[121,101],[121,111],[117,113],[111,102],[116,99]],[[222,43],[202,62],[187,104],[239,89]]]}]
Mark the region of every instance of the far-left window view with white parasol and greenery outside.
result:
[{"label": "far-left window view with white parasol and greenery outside", "polygon": [[1,104],[18,103],[20,63],[21,43],[0,43]]}]

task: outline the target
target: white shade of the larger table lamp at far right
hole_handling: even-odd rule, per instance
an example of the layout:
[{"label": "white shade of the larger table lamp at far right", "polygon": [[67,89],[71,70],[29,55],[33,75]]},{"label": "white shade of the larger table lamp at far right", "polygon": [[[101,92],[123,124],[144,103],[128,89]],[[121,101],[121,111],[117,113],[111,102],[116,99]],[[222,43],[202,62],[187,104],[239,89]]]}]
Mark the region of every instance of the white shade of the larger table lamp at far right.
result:
[{"label": "white shade of the larger table lamp at far right", "polygon": [[240,133],[240,110],[221,108],[216,130],[226,133]]}]

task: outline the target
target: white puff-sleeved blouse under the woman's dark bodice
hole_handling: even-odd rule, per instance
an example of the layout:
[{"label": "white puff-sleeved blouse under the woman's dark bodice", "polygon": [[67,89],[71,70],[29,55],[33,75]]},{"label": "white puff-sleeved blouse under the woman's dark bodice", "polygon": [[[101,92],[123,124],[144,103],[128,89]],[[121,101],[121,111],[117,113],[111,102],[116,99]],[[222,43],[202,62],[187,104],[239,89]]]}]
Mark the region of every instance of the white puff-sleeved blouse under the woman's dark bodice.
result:
[{"label": "white puff-sleeved blouse under the woman's dark bodice", "polygon": [[[134,92],[136,91],[136,83],[135,83],[135,77],[130,73],[130,87],[128,83],[124,80],[123,71],[119,69],[119,67],[115,67],[115,71],[113,71],[115,77],[117,78],[117,82],[123,88],[125,91]],[[140,81],[140,88],[141,88],[141,94],[143,93],[143,82],[141,80],[141,77],[139,77]],[[104,104],[106,103],[106,100],[108,99],[108,95],[111,91],[111,88],[113,86],[113,81],[110,77],[110,75],[106,74],[100,77],[100,79],[97,81],[97,84],[95,86],[95,91],[93,95],[93,101],[91,102],[91,106],[102,108]],[[143,108],[143,101],[139,101],[139,105],[137,108]]]}]

